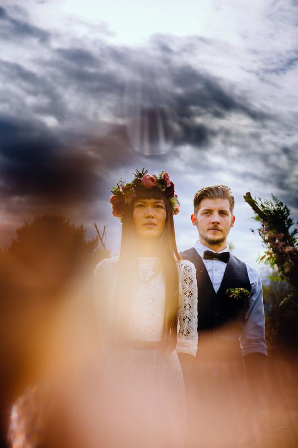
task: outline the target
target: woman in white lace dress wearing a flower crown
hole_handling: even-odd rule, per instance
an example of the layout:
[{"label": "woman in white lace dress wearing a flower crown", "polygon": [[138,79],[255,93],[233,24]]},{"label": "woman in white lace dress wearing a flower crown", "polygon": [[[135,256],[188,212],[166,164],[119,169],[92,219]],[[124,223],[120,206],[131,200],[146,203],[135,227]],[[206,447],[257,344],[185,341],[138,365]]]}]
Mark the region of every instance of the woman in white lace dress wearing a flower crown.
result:
[{"label": "woman in white lace dress wearing a flower crown", "polygon": [[[98,446],[183,447],[184,358],[197,351],[194,265],[180,260],[169,175],[134,174],[110,198],[120,256],[101,261],[94,292],[102,355]],[[191,356],[189,356],[191,355]]]}]

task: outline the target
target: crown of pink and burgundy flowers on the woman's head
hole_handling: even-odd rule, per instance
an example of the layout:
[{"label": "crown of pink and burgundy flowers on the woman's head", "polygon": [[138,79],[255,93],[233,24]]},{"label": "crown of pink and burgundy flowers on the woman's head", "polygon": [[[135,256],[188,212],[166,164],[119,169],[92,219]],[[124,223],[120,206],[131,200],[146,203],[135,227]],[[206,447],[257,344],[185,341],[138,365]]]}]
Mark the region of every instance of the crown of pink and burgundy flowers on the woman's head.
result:
[{"label": "crown of pink and burgundy flowers on the woman's head", "polygon": [[159,176],[152,174],[151,176],[148,170],[145,168],[142,171],[136,170],[133,173],[134,179],[125,183],[123,179],[120,179],[117,187],[113,187],[110,197],[110,203],[112,204],[112,215],[116,218],[120,218],[122,222],[122,217],[124,213],[124,206],[130,205],[132,201],[137,197],[137,190],[139,188],[146,188],[150,190],[153,187],[158,188],[165,196],[172,207],[173,215],[177,215],[180,212],[180,203],[178,201],[177,195],[175,195],[174,184],[170,181],[170,176],[166,171],[161,171]]}]

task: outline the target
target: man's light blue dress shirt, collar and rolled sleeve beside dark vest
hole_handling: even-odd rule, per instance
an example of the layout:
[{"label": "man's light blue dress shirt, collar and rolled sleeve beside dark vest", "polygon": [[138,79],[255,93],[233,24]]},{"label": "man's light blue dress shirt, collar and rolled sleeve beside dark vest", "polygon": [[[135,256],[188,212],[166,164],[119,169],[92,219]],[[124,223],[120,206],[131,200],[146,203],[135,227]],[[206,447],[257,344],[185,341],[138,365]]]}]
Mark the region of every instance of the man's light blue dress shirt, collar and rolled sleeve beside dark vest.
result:
[{"label": "man's light blue dress shirt, collar and rolled sleeve beside dark vest", "polygon": [[[226,263],[217,259],[204,260],[205,250],[215,251],[210,249],[210,247],[204,246],[200,241],[197,240],[194,247],[201,256],[213,287],[217,292],[224,277]],[[220,253],[222,252],[228,252],[228,246]],[[250,353],[262,353],[267,356],[262,282],[258,271],[250,264],[245,264],[251,285],[251,293],[248,298],[248,310],[244,319],[242,335],[239,338],[241,352],[242,356]]]}]

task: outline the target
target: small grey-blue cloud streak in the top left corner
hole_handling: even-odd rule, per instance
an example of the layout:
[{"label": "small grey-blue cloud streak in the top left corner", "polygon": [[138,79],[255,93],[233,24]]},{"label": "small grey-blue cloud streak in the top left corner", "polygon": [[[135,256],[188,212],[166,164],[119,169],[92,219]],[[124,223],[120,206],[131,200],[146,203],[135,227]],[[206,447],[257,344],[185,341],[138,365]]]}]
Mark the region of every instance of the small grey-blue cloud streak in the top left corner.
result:
[{"label": "small grey-blue cloud streak in the top left corner", "polygon": [[27,21],[11,17],[7,11],[0,6],[0,36],[15,39],[33,37],[40,42],[46,42],[50,38],[50,33],[34,26]]}]

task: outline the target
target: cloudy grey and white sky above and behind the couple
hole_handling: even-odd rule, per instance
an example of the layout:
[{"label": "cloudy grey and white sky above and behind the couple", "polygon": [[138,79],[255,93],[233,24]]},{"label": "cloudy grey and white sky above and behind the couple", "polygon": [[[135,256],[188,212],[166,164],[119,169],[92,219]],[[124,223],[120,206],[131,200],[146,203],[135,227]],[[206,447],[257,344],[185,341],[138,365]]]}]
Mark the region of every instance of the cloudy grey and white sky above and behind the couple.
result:
[{"label": "cloudy grey and white sky above and behind the couple", "polygon": [[136,168],[170,173],[178,246],[192,198],[233,190],[236,256],[260,238],[243,201],[271,193],[298,219],[297,0],[2,0],[0,246],[35,215],[120,224],[108,198]]}]

